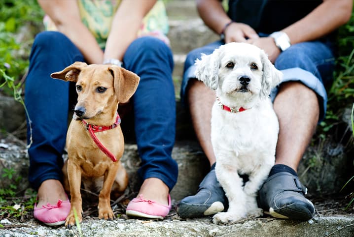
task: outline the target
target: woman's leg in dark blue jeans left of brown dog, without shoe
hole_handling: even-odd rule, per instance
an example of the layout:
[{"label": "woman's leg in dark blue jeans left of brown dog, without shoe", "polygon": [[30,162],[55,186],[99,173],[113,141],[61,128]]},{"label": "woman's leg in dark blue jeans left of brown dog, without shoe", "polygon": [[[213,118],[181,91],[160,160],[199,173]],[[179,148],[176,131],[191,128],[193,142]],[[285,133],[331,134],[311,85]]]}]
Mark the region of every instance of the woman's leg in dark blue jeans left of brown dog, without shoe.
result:
[{"label": "woman's leg in dark blue jeans left of brown dog, without shoe", "polygon": [[[61,185],[69,111],[69,83],[50,77],[83,57],[62,33],[44,31],[35,37],[26,78],[25,103],[30,157],[29,181],[38,189],[38,206],[66,200]],[[31,140],[32,138],[32,140]],[[50,191],[49,191],[50,190]]]}]

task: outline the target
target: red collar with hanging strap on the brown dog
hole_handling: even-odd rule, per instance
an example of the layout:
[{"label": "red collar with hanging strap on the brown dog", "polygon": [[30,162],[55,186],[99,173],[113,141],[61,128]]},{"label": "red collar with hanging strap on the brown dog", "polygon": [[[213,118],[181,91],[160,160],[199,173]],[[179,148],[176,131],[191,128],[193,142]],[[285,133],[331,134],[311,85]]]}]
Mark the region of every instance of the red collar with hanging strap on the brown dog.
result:
[{"label": "red collar with hanging strap on the brown dog", "polygon": [[110,126],[93,125],[93,124],[87,123],[84,119],[82,119],[82,123],[85,125],[86,130],[89,131],[89,134],[90,134],[92,140],[96,143],[98,148],[100,148],[100,150],[102,150],[106,154],[106,156],[108,156],[113,162],[116,162],[117,158],[115,158],[115,156],[105,146],[103,146],[103,144],[100,142],[100,140],[98,140],[98,138],[96,137],[95,132],[103,132],[103,131],[117,127],[120,124],[120,117],[119,117],[118,113],[117,113],[117,118],[115,119],[115,122]]}]

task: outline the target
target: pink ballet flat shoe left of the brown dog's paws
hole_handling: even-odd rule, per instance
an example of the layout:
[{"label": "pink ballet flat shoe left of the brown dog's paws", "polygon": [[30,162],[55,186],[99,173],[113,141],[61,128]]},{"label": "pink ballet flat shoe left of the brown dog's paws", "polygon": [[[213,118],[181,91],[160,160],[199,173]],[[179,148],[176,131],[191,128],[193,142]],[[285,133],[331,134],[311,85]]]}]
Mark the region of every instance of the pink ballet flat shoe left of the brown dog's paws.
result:
[{"label": "pink ballet flat shoe left of the brown dog's paws", "polygon": [[56,205],[43,205],[38,207],[35,204],[33,215],[35,219],[43,222],[48,226],[59,226],[65,223],[65,220],[70,212],[70,200],[62,201],[59,199]]}]

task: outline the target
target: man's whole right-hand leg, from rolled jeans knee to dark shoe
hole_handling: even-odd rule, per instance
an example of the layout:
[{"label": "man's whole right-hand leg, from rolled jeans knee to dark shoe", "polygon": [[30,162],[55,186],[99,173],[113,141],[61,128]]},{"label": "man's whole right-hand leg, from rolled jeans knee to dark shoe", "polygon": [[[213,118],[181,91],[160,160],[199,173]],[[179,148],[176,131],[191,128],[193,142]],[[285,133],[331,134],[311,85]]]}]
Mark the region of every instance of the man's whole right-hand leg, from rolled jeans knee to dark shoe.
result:
[{"label": "man's whole right-hand leg, from rolled jeans knee to dark shoe", "polygon": [[308,220],[315,212],[296,171],[324,117],[323,81],[332,77],[333,64],[330,48],[319,41],[293,45],[275,62],[284,75],[274,100],[280,124],[276,164],[259,190],[260,206],[274,217]]}]

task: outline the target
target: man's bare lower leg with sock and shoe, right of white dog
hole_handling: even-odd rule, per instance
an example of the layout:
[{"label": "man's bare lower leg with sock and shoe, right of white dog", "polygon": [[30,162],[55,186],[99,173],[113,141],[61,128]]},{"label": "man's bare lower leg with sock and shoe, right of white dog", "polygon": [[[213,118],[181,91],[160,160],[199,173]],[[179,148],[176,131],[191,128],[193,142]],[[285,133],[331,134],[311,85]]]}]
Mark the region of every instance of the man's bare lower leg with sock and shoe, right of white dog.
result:
[{"label": "man's bare lower leg with sock and shoe, right of white dog", "polygon": [[283,83],[274,110],[280,127],[276,165],[260,190],[260,204],[274,217],[308,220],[315,209],[296,171],[319,119],[317,94],[299,82]]}]

